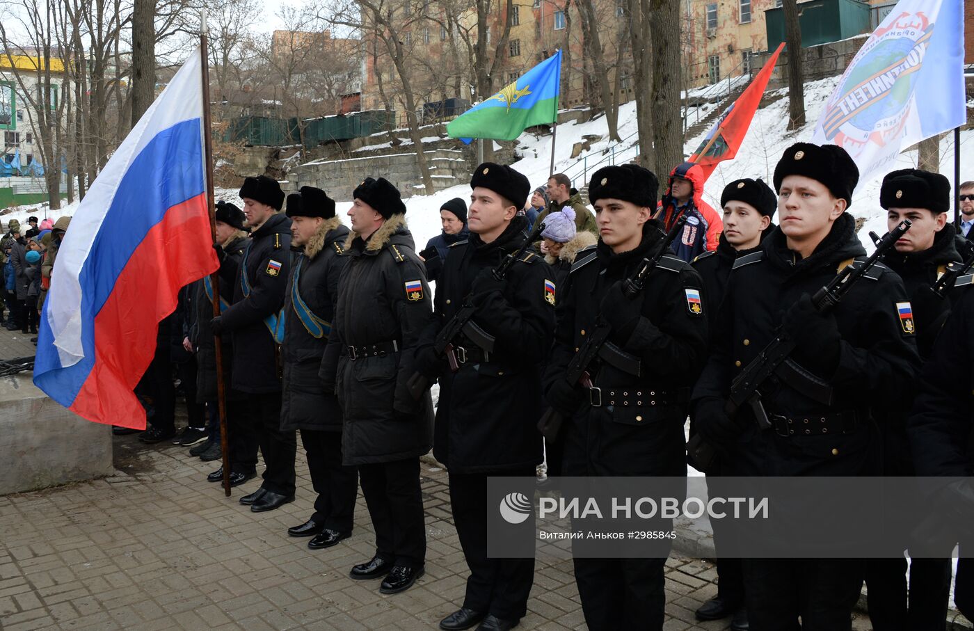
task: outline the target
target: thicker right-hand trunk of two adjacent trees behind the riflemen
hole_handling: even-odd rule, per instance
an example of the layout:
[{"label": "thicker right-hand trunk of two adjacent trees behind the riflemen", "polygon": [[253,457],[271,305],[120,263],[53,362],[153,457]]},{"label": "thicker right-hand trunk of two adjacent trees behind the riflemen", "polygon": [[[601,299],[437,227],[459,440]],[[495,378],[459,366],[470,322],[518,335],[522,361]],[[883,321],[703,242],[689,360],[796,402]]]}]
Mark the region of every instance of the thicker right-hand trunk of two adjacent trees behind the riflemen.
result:
[{"label": "thicker right-hand trunk of two adjacent trees behind the riflemen", "polygon": [[680,5],[652,0],[653,19],[653,146],[656,175],[662,176],[683,162],[680,117]]}]

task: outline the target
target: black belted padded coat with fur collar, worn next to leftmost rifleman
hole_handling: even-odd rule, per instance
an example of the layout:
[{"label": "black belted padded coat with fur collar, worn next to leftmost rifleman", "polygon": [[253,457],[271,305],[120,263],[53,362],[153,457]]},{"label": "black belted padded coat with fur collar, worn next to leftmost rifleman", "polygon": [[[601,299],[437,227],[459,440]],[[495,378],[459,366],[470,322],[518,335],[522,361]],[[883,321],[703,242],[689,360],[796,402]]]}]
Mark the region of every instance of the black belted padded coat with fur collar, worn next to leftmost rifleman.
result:
[{"label": "black belted padded coat with fur collar, worn next to leftmost rifleman", "polygon": [[[318,375],[344,412],[344,464],[418,458],[430,451],[432,402],[429,391],[413,399],[407,383],[432,315],[426,267],[401,214],[367,243],[350,233],[342,248],[349,261],[328,338],[336,348],[325,351]],[[379,350],[365,356],[373,345]]]}]

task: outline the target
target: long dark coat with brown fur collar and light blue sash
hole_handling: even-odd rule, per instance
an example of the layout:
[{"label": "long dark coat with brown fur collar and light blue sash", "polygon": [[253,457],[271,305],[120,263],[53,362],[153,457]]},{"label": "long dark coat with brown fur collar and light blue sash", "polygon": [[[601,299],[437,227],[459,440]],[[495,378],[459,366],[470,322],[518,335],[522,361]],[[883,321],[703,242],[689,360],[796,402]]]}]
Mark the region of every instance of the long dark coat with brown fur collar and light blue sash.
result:
[{"label": "long dark coat with brown fur collar and light blue sash", "polygon": [[[324,221],[294,261],[284,292],[282,429],[341,431],[342,410],[334,390],[318,379],[338,299],[338,281],[348,257],[342,244],[349,229],[338,217]],[[297,287],[294,286],[297,275]],[[332,347],[337,353],[339,348]]]}]

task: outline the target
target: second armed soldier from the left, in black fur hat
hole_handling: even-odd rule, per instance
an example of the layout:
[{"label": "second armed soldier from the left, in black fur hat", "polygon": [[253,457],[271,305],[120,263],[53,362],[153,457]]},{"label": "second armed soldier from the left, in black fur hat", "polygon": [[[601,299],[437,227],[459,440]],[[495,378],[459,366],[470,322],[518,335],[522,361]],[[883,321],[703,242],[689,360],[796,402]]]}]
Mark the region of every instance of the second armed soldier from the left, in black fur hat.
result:
[{"label": "second armed soldier from the left, in black fur hat", "polygon": [[[706,353],[702,282],[689,264],[663,256],[643,293],[622,282],[660,248],[656,176],[635,165],[600,168],[588,197],[600,241],[582,250],[559,297],[555,345],[544,372],[549,405],[565,418],[564,475],[686,475],[684,423],[690,389]],[[610,341],[641,366],[637,377],[608,362],[594,388],[569,383],[565,370],[601,313]],[[575,560],[588,627],[661,629],[665,559]]]}]

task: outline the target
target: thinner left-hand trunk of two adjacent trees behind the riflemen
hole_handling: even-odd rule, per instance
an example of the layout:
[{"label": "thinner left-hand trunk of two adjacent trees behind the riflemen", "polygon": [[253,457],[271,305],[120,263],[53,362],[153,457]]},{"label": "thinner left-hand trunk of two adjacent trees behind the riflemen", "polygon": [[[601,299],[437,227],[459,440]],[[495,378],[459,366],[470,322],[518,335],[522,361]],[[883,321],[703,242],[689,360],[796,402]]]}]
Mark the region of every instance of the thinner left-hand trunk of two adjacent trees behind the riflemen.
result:
[{"label": "thinner left-hand trunk of two adjacent trees behind the riflemen", "polygon": [[[653,15],[650,0],[627,0],[629,6],[629,40],[632,43],[633,84],[636,90],[636,129],[639,131],[639,164],[656,168],[653,146]],[[669,171],[667,171],[669,172]]]}]

